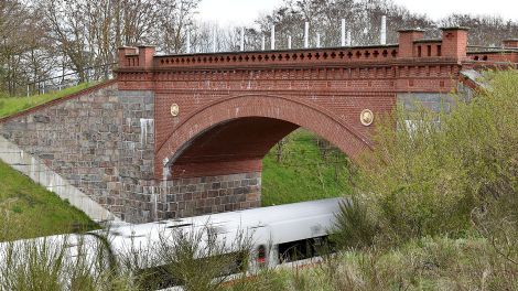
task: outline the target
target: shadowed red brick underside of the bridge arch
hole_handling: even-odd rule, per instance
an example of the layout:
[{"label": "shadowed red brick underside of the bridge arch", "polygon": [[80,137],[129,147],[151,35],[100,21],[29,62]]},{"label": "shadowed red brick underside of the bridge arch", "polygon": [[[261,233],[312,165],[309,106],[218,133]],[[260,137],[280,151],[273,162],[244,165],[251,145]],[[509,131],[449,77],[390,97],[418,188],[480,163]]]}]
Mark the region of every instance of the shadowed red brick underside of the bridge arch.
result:
[{"label": "shadowed red brick underside of the bridge arch", "polygon": [[260,172],[262,158],[298,125],[265,117],[223,122],[186,144],[170,171],[173,179]]}]

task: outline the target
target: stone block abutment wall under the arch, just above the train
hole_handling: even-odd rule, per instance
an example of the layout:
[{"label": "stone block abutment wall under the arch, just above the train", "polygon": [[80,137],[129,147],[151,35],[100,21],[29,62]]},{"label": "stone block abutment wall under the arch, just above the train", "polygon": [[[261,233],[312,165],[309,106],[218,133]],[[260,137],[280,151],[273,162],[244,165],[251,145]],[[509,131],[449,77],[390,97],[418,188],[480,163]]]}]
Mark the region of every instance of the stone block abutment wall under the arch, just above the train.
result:
[{"label": "stone block abutment wall under the arch, just above the train", "polygon": [[125,183],[126,219],[161,220],[260,206],[261,173]]}]

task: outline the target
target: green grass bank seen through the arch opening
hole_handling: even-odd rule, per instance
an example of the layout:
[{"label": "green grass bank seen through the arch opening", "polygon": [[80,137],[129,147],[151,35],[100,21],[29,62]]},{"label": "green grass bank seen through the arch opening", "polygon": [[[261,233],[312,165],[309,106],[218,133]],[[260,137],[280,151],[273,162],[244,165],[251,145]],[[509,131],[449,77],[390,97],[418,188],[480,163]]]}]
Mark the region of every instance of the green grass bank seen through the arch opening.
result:
[{"label": "green grass bank seen through the arch opening", "polygon": [[280,162],[277,161],[277,146],[265,157],[262,206],[338,197],[350,193],[347,158],[334,148],[328,149],[324,157],[317,140],[314,133],[299,129],[285,138]]}]

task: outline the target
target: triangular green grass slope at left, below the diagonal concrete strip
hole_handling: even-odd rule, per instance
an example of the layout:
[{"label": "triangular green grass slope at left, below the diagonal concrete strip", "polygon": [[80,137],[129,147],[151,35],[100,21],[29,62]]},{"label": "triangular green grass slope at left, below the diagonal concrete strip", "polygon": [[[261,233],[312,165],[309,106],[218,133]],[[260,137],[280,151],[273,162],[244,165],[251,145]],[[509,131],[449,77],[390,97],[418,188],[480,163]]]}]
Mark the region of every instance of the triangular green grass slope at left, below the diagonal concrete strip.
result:
[{"label": "triangular green grass slope at left, below the diagonal concrete strip", "polygon": [[97,226],[79,209],[0,161],[0,241]]}]

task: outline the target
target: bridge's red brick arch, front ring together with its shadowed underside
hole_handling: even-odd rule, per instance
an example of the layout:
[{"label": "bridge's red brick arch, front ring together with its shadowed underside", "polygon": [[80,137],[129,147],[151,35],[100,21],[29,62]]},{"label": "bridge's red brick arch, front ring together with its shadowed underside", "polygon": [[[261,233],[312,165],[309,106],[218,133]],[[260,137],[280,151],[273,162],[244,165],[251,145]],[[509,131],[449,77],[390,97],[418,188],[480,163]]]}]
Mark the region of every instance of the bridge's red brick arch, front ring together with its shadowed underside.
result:
[{"label": "bridge's red brick arch, front ring together with its shadowed underside", "polygon": [[158,149],[158,176],[168,179],[260,172],[283,137],[303,127],[353,159],[368,139],[324,108],[279,96],[237,96],[185,117]]}]

